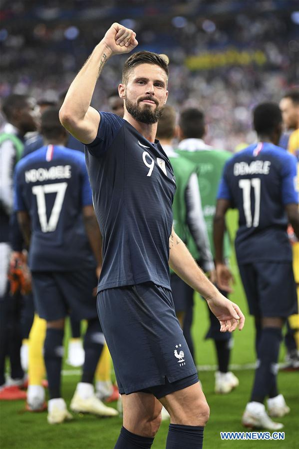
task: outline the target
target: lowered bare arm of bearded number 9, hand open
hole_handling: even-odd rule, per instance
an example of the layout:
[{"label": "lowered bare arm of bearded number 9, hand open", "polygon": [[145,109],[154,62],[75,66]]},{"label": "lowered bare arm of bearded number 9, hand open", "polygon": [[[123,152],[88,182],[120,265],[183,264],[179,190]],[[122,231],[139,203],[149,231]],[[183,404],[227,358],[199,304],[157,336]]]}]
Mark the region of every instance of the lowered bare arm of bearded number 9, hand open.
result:
[{"label": "lowered bare arm of bearded number 9, hand open", "polygon": [[245,317],[237,304],[225,298],[199,268],[189,250],[172,229],[169,238],[169,265],[188,285],[207,301],[220,321],[221,332],[243,329]]}]

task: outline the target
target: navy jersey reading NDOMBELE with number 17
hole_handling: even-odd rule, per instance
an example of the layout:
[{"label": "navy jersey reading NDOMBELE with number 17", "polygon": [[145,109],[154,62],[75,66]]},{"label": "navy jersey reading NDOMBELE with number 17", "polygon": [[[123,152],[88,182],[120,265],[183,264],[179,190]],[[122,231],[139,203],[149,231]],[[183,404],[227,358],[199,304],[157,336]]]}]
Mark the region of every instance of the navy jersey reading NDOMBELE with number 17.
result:
[{"label": "navy jersey reading NDOMBELE with number 17", "polygon": [[43,146],[15,168],[16,211],[31,217],[32,271],[73,271],[95,267],[82,208],[92,204],[84,154]]}]

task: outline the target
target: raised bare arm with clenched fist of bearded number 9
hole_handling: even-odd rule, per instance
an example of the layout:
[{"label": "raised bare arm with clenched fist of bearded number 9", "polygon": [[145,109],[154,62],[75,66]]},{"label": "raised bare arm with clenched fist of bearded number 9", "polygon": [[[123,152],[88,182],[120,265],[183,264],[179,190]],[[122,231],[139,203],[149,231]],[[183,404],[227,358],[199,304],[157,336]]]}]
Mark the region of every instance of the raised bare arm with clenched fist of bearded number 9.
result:
[{"label": "raised bare arm with clenched fist of bearded number 9", "polygon": [[71,83],[59,112],[62,125],[78,140],[91,143],[98,130],[100,115],[90,106],[97,79],[114,54],[129,53],[138,45],[136,33],[113,23]]}]

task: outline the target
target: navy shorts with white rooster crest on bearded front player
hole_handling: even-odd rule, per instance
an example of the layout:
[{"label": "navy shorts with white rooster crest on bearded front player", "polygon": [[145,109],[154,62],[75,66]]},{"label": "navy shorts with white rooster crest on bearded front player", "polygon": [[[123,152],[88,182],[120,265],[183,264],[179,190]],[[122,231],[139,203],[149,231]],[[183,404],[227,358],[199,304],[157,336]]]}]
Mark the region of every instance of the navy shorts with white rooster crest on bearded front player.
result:
[{"label": "navy shorts with white rooster crest on bearded front player", "polygon": [[111,288],[98,293],[97,308],[120,394],[161,398],[198,382],[169,290],[152,282]]}]

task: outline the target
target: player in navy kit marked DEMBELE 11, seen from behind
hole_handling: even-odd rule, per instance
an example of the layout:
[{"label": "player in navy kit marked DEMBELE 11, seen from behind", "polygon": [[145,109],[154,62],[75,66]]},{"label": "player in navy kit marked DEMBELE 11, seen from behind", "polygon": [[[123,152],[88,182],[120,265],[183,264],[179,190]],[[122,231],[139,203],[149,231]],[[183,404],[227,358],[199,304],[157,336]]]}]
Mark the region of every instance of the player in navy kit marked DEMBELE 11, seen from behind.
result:
[{"label": "player in navy kit marked DEMBELE 11, seen from behind", "polygon": [[[234,155],[225,165],[214,218],[216,270],[220,288],[230,280],[223,263],[224,219],[230,207],[239,211],[235,241],[241,279],[249,310],[255,317],[259,360],[250,402],[242,423],[247,427],[278,430],[282,424],[270,416],[290,412],[277,386],[282,327],[297,313],[288,221],[299,236],[297,161],[276,146],[282,113],[276,103],[261,103],[253,113],[259,142]],[[266,413],[264,401],[268,399]]]}]

